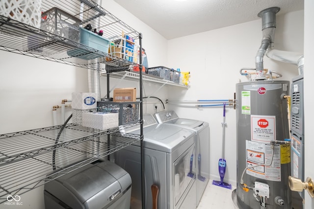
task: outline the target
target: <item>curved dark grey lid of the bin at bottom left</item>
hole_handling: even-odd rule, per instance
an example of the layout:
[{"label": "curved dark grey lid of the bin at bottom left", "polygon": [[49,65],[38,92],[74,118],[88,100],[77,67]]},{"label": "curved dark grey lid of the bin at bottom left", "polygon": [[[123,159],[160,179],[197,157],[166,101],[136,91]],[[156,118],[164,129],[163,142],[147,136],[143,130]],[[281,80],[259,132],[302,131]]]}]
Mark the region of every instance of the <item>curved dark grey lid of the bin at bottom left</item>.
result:
[{"label": "curved dark grey lid of the bin at bottom left", "polygon": [[[126,181],[128,177],[129,174],[118,165],[107,161],[96,161],[60,176],[54,180],[59,184],[50,182],[46,184],[45,189],[48,192],[59,191],[60,194],[70,192],[78,198],[81,204],[88,202],[91,198],[105,203],[110,201],[108,199],[110,195],[117,191],[121,193],[131,185],[130,177],[129,181]],[[98,197],[97,194],[103,195]],[[62,199],[62,197],[59,198]]]}]

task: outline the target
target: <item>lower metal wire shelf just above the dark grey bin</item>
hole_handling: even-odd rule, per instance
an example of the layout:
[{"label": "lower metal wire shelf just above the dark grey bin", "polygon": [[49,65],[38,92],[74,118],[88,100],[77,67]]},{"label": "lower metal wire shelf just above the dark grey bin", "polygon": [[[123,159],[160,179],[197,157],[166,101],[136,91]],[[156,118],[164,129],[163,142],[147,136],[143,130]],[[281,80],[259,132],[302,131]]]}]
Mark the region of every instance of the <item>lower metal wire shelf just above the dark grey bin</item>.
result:
[{"label": "lower metal wire shelf just above the dark grey bin", "polygon": [[105,131],[68,124],[61,134],[62,125],[0,135],[0,203],[140,141],[119,132],[139,124]]}]

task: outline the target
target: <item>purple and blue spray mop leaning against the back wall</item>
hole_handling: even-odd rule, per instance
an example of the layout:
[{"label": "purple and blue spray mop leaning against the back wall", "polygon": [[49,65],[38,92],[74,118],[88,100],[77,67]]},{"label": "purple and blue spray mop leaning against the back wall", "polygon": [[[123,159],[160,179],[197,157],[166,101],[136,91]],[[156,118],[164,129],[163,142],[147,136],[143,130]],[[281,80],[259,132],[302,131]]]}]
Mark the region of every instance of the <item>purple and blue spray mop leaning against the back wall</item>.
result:
[{"label": "purple and blue spray mop leaning against the back wall", "polygon": [[218,161],[218,170],[219,170],[219,176],[220,181],[212,181],[212,185],[221,186],[224,188],[231,189],[231,185],[224,182],[224,177],[226,173],[226,166],[227,162],[224,159],[225,157],[225,126],[226,126],[226,103],[224,103],[224,114],[223,114],[224,121],[222,123],[222,157]]}]

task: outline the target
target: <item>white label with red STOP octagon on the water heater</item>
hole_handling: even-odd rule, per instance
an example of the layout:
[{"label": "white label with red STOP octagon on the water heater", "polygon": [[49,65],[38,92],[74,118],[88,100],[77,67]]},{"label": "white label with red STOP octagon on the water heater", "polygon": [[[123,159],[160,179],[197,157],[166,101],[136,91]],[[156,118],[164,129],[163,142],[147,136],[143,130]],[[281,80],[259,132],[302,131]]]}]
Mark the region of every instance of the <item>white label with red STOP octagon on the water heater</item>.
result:
[{"label": "white label with red STOP octagon on the water heater", "polygon": [[252,141],[270,142],[276,139],[276,116],[251,115]]}]

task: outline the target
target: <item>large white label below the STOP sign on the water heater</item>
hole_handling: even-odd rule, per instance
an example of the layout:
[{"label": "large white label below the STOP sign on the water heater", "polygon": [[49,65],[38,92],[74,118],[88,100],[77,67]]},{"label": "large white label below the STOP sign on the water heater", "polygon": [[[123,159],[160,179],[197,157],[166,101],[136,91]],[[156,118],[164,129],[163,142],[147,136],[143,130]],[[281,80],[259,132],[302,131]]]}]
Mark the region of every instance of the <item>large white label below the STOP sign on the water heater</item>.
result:
[{"label": "large white label below the STOP sign on the water heater", "polygon": [[[273,153],[274,152],[274,153]],[[260,179],[281,181],[280,145],[246,140],[246,173]]]}]

